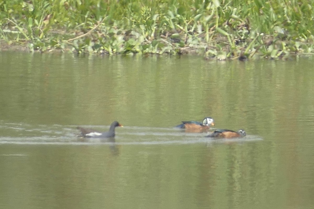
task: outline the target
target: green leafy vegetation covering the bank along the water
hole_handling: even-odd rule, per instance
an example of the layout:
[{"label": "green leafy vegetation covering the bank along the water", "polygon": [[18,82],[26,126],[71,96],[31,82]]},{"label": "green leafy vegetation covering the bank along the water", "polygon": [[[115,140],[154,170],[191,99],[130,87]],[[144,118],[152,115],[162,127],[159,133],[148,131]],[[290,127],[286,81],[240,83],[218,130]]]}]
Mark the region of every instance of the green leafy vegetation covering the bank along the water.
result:
[{"label": "green leafy vegetation covering the bank along the water", "polygon": [[0,48],[285,59],[314,52],[313,5],[314,0],[3,0]]}]

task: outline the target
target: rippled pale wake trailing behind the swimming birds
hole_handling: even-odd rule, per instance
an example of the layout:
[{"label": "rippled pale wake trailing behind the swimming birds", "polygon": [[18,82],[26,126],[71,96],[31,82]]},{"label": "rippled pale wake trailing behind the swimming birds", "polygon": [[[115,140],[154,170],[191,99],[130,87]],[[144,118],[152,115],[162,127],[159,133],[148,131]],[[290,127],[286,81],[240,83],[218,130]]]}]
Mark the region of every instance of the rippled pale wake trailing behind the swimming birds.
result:
[{"label": "rippled pale wake trailing behind the swimming birds", "polygon": [[[0,144],[46,144],[46,145],[170,145],[196,143],[248,142],[262,140],[258,136],[247,135],[244,138],[212,139],[205,138],[208,133],[186,133],[177,128],[123,127],[116,129],[115,142],[101,138],[78,138],[79,131],[73,126],[29,125],[2,123],[0,129],[14,133],[13,136],[0,136]],[[106,131],[104,126],[84,126]]]}]

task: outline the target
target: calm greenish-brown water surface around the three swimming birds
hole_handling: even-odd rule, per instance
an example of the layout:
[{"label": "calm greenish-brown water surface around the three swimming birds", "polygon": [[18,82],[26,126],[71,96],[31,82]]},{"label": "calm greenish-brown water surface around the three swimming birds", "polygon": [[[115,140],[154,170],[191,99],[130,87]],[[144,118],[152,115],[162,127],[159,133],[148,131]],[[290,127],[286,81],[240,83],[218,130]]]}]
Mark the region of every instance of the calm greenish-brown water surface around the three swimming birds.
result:
[{"label": "calm greenish-brown water surface around the three swimming birds", "polygon": [[314,208],[313,65],[1,52],[0,208]]}]

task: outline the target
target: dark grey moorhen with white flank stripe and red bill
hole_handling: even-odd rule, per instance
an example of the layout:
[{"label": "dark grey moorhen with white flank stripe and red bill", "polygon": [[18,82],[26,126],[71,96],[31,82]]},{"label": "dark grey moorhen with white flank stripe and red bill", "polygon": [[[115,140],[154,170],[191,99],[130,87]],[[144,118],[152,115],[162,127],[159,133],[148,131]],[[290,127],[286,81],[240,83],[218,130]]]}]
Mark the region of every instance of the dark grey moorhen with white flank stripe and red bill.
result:
[{"label": "dark grey moorhen with white flank stripe and red bill", "polygon": [[90,128],[82,128],[82,127],[77,127],[81,131],[80,137],[86,137],[86,138],[109,138],[109,137],[114,137],[115,136],[115,128],[117,126],[123,127],[120,123],[117,121],[114,121],[111,123],[111,126],[109,128],[109,131],[107,132],[98,132]]}]

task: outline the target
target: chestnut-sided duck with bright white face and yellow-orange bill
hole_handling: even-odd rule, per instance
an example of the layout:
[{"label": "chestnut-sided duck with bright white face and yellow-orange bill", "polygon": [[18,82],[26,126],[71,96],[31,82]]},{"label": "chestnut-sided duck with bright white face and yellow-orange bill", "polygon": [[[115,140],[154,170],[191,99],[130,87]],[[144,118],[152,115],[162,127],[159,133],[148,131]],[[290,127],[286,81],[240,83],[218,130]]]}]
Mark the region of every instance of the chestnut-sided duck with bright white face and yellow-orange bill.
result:
[{"label": "chestnut-sided duck with bright white face and yellow-orange bill", "polygon": [[186,132],[207,132],[210,126],[214,126],[214,119],[211,117],[206,117],[203,119],[203,122],[198,121],[182,121],[180,125],[177,125],[175,128],[185,129]]}]

